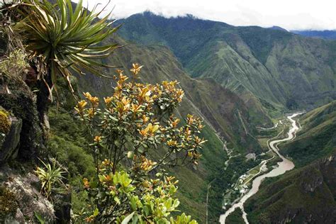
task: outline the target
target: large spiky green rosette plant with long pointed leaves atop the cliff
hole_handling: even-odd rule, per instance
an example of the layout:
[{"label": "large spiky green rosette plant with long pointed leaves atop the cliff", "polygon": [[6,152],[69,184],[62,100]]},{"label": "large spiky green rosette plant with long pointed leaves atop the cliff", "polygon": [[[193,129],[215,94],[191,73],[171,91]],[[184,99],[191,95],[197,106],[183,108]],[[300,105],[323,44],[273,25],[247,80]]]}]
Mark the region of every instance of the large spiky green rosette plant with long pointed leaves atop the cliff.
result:
[{"label": "large spiky green rosette plant with long pointed leaves atop the cliff", "polygon": [[96,7],[90,12],[82,6],[79,0],[76,9],[72,9],[70,0],[57,0],[56,4],[43,0],[24,0],[20,13],[23,21],[21,27],[24,40],[31,55],[38,58],[45,67],[41,69],[39,78],[45,82],[50,76],[51,85],[47,85],[52,98],[57,77],[62,76],[69,84],[69,77],[76,72],[84,74],[85,69],[92,74],[105,76],[101,67],[111,67],[95,61],[111,55],[118,44],[99,45],[102,40],[118,30],[111,28],[113,21],[108,13],[98,18],[101,12]]}]

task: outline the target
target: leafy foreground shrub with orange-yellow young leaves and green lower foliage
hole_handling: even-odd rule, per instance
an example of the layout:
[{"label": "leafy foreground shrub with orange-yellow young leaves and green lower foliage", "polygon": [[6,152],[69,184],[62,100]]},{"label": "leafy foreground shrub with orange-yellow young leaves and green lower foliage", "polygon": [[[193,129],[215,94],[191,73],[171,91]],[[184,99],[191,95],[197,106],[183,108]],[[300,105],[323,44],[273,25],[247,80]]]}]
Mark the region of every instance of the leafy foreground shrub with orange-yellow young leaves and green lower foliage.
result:
[{"label": "leafy foreground shrub with orange-yellow young leaves and green lower foliage", "polygon": [[[101,107],[99,98],[85,93],[75,108],[88,128],[96,162],[96,179],[84,179],[86,221],[196,223],[184,214],[172,217],[179,206],[177,181],[160,167],[197,164],[205,142],[198,136],[203,124],[188,115],[181,125],[172,114],[184,96],[178,83],[137,83],[140,69],[133,64],[131,82],[118,70],[114,93]],[[165,151],[162,156],[158,147]]]}]

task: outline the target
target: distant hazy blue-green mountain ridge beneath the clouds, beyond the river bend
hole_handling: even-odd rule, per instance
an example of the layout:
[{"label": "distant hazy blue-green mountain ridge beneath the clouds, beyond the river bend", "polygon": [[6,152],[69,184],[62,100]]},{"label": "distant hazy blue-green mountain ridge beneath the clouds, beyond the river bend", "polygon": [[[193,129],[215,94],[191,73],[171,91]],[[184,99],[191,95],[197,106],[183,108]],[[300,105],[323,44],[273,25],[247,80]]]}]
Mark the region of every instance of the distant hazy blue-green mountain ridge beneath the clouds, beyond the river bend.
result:
[{"label": "distant hazy blue-green mountain ridge beneath the clouds, beyond the river bend", "polygon": [[169,47],[192,77],[213,78],[238,94],[251,113],[272,116],[336,99],[335,42],[150,12],[120,23],[123,38]]}]

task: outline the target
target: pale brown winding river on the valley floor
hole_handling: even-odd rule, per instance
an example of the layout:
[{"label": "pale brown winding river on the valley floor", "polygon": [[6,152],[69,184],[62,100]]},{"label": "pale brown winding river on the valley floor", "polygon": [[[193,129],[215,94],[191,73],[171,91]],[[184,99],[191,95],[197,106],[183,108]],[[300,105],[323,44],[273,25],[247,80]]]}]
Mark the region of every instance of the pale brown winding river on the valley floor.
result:
[{"label": "pale brown winding river on the valley floor", "polygon": [[249,223],[247,220],[247,213],[245,213],[244,211],[245,201],[247,201],[248,198],[250,198],[252,195],[257,193],[257,191],[259,190],[260,184],[266,177],[276,177],[294,168],[293,162],[291,162],[291,160],[289,159],[286,159],[283,155],[279,153],[279,148],[277,147],[277,145],[279,144],[279,142],[285,142],[285,141],[292,140],[293,138],[295,138],[296,131],[298,130],[299,127],[298,125],[296,125],[296,121],[294,121],[293,118],[298,116],[299,114],[301,113],[294,113],[293,115],[287,117],[289,121],[291,121],[291,128],[289,129],[287,138],[283,138],[281,140],[273,140],[269,142],[269,147],[277,155],[279,155],[279,157],[282,159],[282,162],[278,162],[278,167],[272,169],[270,172],[266,174],[262,174],[261,176],[255,178],[252,181],[252,188],[250,189],[250,191],[248,191],[247,194],[242,196],[242,198],[240,198],[240,200],[237,201],[237,203],[233,204],[233,206],[229,208],[228,211],[225,212],[225,214],[220,215],[219,221],[221,224],[225,224],[225,219],[228,217],[228,215],[230,215],[230,213],[233,213],[233,211],[235,211],[235,208],[240,208],[242,210],[242,218],[245,220],[245,223]]}]

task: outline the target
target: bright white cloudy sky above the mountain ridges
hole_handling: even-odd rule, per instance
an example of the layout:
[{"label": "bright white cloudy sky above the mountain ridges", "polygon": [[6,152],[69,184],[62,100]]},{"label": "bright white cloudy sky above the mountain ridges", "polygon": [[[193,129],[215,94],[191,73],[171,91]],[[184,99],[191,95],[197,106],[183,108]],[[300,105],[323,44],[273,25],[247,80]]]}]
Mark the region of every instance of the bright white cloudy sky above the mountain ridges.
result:
[{"label": "bright white cloudy sky above the mountain ridges", "polygon": [[[108,3],[108,0],[84,0],[88,1],[89,8]],[[189,13],[233,26],[336,30],[336,0],[111,0],[110,9],[114,18],[149,10],[165,17]]]}]

